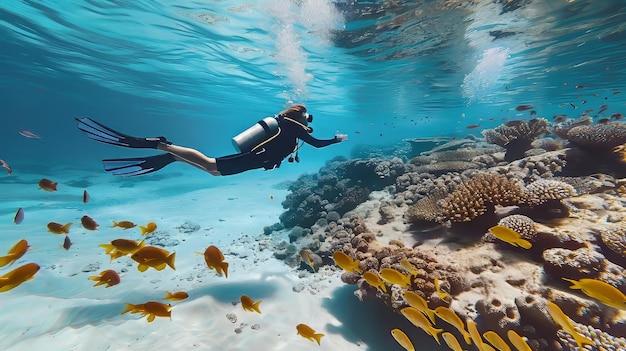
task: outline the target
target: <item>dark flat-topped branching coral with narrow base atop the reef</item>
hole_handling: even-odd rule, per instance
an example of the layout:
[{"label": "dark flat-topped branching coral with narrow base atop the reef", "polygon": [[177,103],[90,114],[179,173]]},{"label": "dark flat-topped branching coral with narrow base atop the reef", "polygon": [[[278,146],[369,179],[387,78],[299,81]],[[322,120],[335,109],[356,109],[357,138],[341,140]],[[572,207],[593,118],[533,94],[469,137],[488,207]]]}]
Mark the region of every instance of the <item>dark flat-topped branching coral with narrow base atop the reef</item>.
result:
[{"label": "dark flat-topped branching coral with narrow base atop the reef", "polygon": [[513,161],[524,156],[532,148],[531,143],[537,137],[547,133],[548,121],[535,118],[530,121],[510,121],[495,129],[482,131],[485,140],[506,149],[505,160]]}]

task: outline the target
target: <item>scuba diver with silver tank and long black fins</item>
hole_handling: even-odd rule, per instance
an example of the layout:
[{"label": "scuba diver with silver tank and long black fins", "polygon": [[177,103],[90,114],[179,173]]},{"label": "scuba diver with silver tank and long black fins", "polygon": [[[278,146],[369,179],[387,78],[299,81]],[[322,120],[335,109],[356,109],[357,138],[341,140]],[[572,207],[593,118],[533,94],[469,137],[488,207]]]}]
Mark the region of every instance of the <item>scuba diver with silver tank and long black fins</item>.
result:
[{"label": "scuba diver with silver tank and long black fins", "polygon": [[231,175],[251,169],[270,170],[280,167],[289,155],[289,162],[300,162],[298,150],[303,145],[298,140],[317,148],[340,143],[346,134],[336,133],[332,139],[316,139],[311,135],[309,123],[313,115],[304,105],[292,105],[274,117],[266,117],[232,138],[239,151],[222,157],[208,157],[198,150],[173,145],[165,137],[138,138],[117,132],[90,118],[76,118],[78,129],[101,143],[133,149],[158,149],[165,153],[135,158],[102,160],[104,170],[118,176],[137,176],[160,170],[174,161],[181,161],[209,172],[212,175]]}]

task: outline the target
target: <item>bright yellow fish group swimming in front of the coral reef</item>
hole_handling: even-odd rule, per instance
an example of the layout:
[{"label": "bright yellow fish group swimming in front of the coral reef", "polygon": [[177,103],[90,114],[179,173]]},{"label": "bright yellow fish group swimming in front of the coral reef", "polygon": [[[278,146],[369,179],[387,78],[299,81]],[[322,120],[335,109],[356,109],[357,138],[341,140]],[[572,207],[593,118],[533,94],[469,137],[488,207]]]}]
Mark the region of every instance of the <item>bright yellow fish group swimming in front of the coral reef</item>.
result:
[{"label": "bright yellow fish group swimming in front of the coral reef", "polygon": [[[518,233],[512,229],[496,226],[489,229],[497,238],[524,249],[531,247],[530,243],[522,239]],[[360,268],[359,260],[356,260],[344,252],[336,251],[333,254],[335,264],[347,272],[356,272],[362,275],[363,279],[371,286],[383,292],[388,291],[388,285],[397,285],[402,288],[402,296],[408,307],[400,309],[400,313],[413,324],[415,327],[423,330],[427,335],[432,336],[438,344],[441,344],[439,336],[454,351],[465,350],[462,343],[457,337],[449,331],[448,326],[452,326],[459,335],[465,345],[475,345],[479,351],[510,351],[510,345],[518,351],[530,351],[531,347],[527,343],[527,339],[519,335],[514,330],[507,331],[508,342],[493,330],[487,330],[480,333],[476,327],[476,323],[472,319],[467,319],[465,323],[461,317],[451,308],[439,306],[430,309],[428,302],[418,293],[409,290],[413,279],[418,277],[421,272],[414,267],[407,259],[403,259],[400,265],[406,272],[400,272],[393,268],[383,268],[380,272],[366,271]],[[626,296],[614,286],[597,279],[580,279],[573,280],[563,278],[572,283],[571,289],[580,289],[587,296],[617,309],[626,310]],[[436,293],[441,300],[450,301],[452,297],[447,292],[441,290],[439,279],[435,278]],[[571,320],[563,311],[553,302],[548,302],[547,311],[552,320],[567,334],[570,334],[582,350],[584,345],[594,345],[588,338],[576,332]],[[441,320],[443,325],[438,324]],[[441,326],[442,328],[437,328]],[[391,335],[407,351],[414,351],[415,347],[407,334],[399,328],[391,330]],[[485,342],[487,341],[487,343]]]}]

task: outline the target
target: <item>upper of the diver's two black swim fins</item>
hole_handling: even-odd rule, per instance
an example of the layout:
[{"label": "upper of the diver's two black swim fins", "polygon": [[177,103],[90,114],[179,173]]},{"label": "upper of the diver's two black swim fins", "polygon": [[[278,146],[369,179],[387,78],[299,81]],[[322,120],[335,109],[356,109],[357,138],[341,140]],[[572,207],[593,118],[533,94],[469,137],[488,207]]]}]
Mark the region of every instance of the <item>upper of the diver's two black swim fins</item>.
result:
[{"label": "upper of the diver's two black swim fins", "polygon": [[167,139],[165,139],[165,137],[137,138],[130,136],[128,134],[115,131],[88,117],[76,118],[76,121],[78,122],[78,129],[83,131],[89,139],[105,144],[123,146],[132,149],[156,149],[161,142],[171,144],[167,141]]}]

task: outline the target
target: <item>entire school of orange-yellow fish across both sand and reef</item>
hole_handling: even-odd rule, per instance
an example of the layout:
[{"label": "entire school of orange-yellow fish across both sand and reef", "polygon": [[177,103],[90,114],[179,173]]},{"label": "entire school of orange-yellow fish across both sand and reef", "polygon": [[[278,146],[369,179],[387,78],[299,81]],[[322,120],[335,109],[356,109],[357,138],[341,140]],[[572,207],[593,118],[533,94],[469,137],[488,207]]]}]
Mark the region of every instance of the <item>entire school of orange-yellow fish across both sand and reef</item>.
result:
[{"label": "entire school of orange-yellow fish across both sand and reef", "polygon": [[[47,179],[42,179],[39,182],[39,187],[46,191],[56,191],[56,182],[52,182]],[[83,203],[87,203],[89,195],[85,190],[83,193]],[[16,224],[21,223],[24,218],[24,209],[18,209],[14,222]],[[97,230],[98,224],[89,216],[83,216],[81,218],[83,227],[87,230]],[[63,247],[69,250],[71,242],[69,241],[69,231],[72,226],[72,222],[66,224],[49,222],[47,229],[53,234],[66,235],[66,241]],[[130,221],[113,221],[111,228],[119,227],[123,230],[131,229],[137,225]],[[153,233],[157,225],[154,222],[149,222],[145,226],[139,226],[141,235],[149,235]],[[530,243],[522,239],[518,233],[503,226],[495,226],[489,229],[489,231],[500,240],[510,243],[511,245],[529,249]],[[68,242],[70,244],[68,244]],[[67,247],[66,247],[67,246]],[[119,238],[112,240],[110,243],[100,244],[105,250],[105,254],[110,256],[110,261],[119,259],[124,256],[130,256],[130,259],[137,263],[137,270],[139,272],[145,272],[149,268],[153,268],[157,271],[161,271],[166,267],[170,267],[175,270],[175,258],[176,253],[170,253],[165,249],[156,246],[147,246],[145,240],[135,241],[131,239]],[[0,267],[11,266],[17,260],[21,259],[29,250],[27,240],[22,239],[13,245],[6,255],[0,256]],[[214,245],[210,245],[203,253],[197,252],[204,256],[204,260],[209,269],[216,271],[218,276],[224,276],[228,278],[228,262],[225,261],[223,253]],[[302,248],[299,252],[302,262],[310,266],[313,272],[316,272],[316,267],[311,259],[311,256],[306,248]],[[387,293],[388,285],[397,285],[402,289],[402,296],[407,304],[407,307],[401,308],[401,314],[415,327],[423,330],[426,334],[432,336],[438,344],[441,344],[439,336],[442,336],[443,341],[448,345],[451,350],[463,350],[461,342],[456,338],[454,334],[446,331],[444,328],[437,328],[436,326],[448,327],[452,326],[459,335],[462,336],[462,341],[466,345],[475,345],[478,350],[511,350],[509,344],[495,331],[488,330],[480,334],[476,324],[472,319],[467,319],[465,323],[457,315],[457,313],[445,306],[439,306],[434,309],[429,308],[428,302],[420,296],[418,293],[409,290],[413,284],[413,280],[423,275],[423,272],[417,269],[407,259],[403,259],[400,262],[402,269],[406,272],[401,272],[393,268],[383,268],[380,272],[377,271],[365,271],[360,268],[359,260],[356,260],[349,255],[341,251],[336,251],[332,256],[335,264],[341,269],[347,272],[356,272],[361,274],[363,279],[371,286],[382,292]],[[26,263],[19,266],[4,275],[0,276],[0,292],[6,292],[14,289],[26,281],[34,278],[35,274],[39,271],[40,266],[36,263]],[[119,274],[112,269],[107,269],[100,272],[99,275],[88,277],[89,280],[95,281],[94,287],[105,285],[106,288],[118,285],[121,282]],[[614,286],[602,282],[596,279],[568,279],[563,278],[565,281],[570,282],[571,289],[580,289],[587,296],[598,300],[599,302],[611,306],[617,309],[626,310],[626,296]],[[443,301],[450,302],[452,297],[446,291],[443,291],[440,287],[438,278],[435,278],[433,284],[436,289],[436,293]],[[184,291],[169,292],[167,291],[163,300],[167,301],[181,301],[185,300],[189,295]],[[245,311],[261,313],[260,304],[261,301],[254,301],[248,295],[241,296],[241,305]],[[593,342],[586,337],[576,332],[571,320],[563,311],[553,302],[548,302],[547,311],[552,317],[553,321],[564,332],[570,334],[576,341],[578,346],[582,349],[584,345],[593,345]],[[156,317],[167,317],[171,319],[172,305],[165,304],[158,301],[147,301],[141,304],[126,303],[126,308],[122,310],[121,314],[131,313],[139,314],[142,317],[147,317],[148,322],[152,322]],[[443,325],[439,325],[439,320],[445,322]],[[467,327],[466,327],[467,326]],[[313,328],[306,324],[298,324],[296,326],[298,335],[303,338],[321,344],[321,338],[324,334],[317,333]],[[391,330],[392,337],[407,351],[415,350],[411,340],[405,332],[399,328]],[[531,350],[530,346],[526,343],[526,339],[516,333],[513,330],[507,331],[507,338],[511,345],[513,345],[519,351]],[[484,340],[488,342],[485,343]],[[492,346],[490,346],[492,345]]]}]

